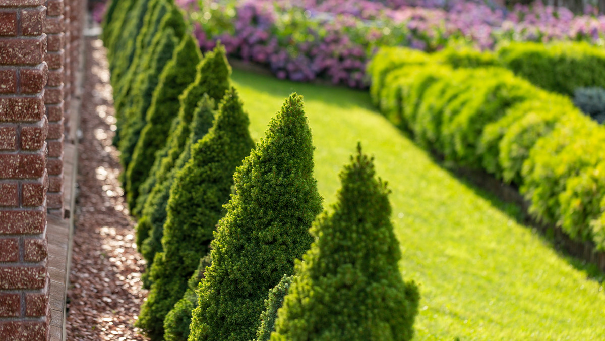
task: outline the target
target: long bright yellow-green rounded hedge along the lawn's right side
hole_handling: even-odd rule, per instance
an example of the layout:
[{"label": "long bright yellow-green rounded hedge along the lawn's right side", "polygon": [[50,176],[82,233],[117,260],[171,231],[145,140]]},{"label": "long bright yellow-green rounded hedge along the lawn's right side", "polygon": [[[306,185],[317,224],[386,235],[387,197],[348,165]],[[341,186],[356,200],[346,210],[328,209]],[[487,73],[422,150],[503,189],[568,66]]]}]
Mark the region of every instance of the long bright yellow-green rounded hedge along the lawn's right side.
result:
[{"label": "long bright yellow-green rounded hedge along the lawn's right side", "polygon": [[444,55],[379,51],[368,68],[373,102],[420,145],[518,185],[538,220],[605,249],[605,127],[510,70],[455,67],[489,58]]}]

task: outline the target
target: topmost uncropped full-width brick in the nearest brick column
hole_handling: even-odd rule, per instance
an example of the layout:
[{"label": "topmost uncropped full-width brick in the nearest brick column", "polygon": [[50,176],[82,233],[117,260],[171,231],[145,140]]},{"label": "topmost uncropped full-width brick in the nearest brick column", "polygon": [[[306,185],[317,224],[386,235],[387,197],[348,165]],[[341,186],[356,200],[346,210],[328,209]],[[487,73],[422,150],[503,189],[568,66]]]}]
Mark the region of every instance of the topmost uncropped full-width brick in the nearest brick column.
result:
[{"label": "topmost uncropped full-width brick in the nearest brick column", "polygon": [[46,55],[46,35],[37,38],[1,38],[0,63],[38,65]]}]

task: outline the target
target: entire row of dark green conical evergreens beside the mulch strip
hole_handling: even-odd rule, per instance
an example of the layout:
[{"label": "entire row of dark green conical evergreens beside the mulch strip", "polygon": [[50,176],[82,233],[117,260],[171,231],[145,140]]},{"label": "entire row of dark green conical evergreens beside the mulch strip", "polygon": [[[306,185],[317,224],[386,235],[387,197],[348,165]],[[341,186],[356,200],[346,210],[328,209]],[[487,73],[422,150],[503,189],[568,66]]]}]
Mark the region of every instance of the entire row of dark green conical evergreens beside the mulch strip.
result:
[{"label": "entire row of dark green conical evergreens beside the mulch strip", "polygon": [[[286,99],[255,146],[230,85],[223,47],[202,58],[168,0],[114,1],[108,13],[103,39],[119,74],[112,78],[121,113],[116,144],[126,169],[127,202],[140,217],[137,245],[148,260],[143,280],[150,290],[136,325],[154,341],[269,339],[276,321],[290,319],[279,313],[280,306],[289,283],[306,276],[302,268],[295,274],[295,263],[313,250],[309,228],[322,210],[302,97]],[[361,150],[343,174],[336,225],[356,236],[319,222],[313,228],[316,244],[321,235],[321,245],[347,247],[332,250],[333,256],[309,251],[304,257],[345,272],[345,277],[322,274],[332,280],[323,288],[332,294],[324,299],[350,297],[363,308],[334,311],[335,319],[313,328],[336,339],[409,340],[418,296],[397,268],[401,254],[389,220],[388,191]],[[381,241],[368,247],[367,238],[373,237]],[[368,265],[378,268],[367,271]],[[358,285],[333,286],[348,278],[350,268]],[[315,290],[327,283],[313,279],[319,279]],[[383,294],[375,288],[385,279],[394,289]],[[362,297],[367,288],[374,293]],[[367,305],[368,300],[373,302]],[[324,314],[289,306],[315,314],[315,320]],[[345,320],[379,327],[360,334],[343,329]]]}]

